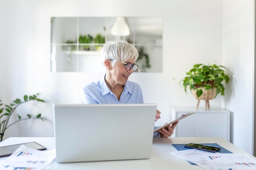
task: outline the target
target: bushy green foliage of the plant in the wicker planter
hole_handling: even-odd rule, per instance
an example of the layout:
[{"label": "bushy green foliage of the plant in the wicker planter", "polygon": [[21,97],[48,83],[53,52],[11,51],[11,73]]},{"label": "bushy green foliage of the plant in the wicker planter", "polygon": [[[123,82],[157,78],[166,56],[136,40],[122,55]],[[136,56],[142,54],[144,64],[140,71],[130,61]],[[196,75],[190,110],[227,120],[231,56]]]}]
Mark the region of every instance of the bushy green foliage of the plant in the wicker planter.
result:
[{"label": "bushy green foliage of the plant in the wicker planter", "polygon": [[230,79],[229,76],[225,74],[225,70],[226,68],[221,65],[195,64],[193,68],[186,73],[187,76],[181,81],[183,82],[185,91],[187,92],[187,88],[195,90],[197,97],[202,95],[202,88],[205,88],[205,90],[216,88],[216,96],[219,93],[224,96],[225,87],[222,82],[225,81],[226,84],[228,84]]}]

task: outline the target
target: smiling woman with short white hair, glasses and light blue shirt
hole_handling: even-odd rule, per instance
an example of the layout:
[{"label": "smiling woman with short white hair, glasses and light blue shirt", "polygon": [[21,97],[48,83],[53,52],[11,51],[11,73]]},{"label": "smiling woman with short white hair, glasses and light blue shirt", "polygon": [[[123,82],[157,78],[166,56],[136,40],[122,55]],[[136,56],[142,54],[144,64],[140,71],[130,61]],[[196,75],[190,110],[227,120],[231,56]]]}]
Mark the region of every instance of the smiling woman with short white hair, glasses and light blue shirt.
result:
[{"label": "smiling woman with short white hair, glasses and light blue shirt", "polygon": [[[128,81],[137,70],[138,51],[125,41],[109,41],[101,49],[101,60],[106,67],[106,74],[97,81],[85,86],[81,91],[83,104],[141,104],[142,90],[139,84]],[[161,112],[156,111],[155,121]],[[177,122],[178,123],[178,122]],[[154,137],[170,137],[177,123],[159,130]]]}]

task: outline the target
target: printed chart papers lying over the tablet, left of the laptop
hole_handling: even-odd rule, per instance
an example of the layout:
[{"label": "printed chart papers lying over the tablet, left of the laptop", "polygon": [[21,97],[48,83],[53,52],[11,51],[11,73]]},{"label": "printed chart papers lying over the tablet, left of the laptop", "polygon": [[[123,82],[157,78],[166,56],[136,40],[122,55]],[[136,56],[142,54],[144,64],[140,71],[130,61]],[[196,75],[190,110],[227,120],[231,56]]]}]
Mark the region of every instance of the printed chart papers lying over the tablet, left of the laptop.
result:
[{"label": "printed chart papers lying over the tablet, left of the laptop", "polygon": [[54,160],[55,155],[55,150],[35,150],[21,145],[0,161],[0,170],[42,170]]}]

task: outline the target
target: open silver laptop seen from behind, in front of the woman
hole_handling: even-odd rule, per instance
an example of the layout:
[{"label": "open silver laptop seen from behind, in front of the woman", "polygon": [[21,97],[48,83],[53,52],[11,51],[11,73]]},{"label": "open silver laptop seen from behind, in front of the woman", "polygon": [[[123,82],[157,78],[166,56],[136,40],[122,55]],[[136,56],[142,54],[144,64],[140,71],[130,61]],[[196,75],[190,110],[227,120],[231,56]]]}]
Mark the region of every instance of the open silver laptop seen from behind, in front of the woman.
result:
[{"label": "open silver laptop seen from behind, in front of the woman", "polygon": [[148,159],[156,104],[55,104],[56,162]]}]

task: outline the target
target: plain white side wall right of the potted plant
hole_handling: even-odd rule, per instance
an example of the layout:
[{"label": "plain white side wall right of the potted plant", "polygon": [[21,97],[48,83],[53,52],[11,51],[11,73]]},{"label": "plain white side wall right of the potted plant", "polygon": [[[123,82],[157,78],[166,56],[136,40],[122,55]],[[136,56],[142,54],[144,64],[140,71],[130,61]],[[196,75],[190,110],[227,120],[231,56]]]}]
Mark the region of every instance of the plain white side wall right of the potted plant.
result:
[{"label": "plain white side wall right of the potted plant", "polygon": [[[253,145],[254,1],[223,1],[222,61],[233,75],[224,106],[233,112],[233,143],[251,152]],[[255,153],[254,153],[255,154]]]}]

